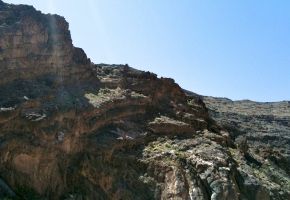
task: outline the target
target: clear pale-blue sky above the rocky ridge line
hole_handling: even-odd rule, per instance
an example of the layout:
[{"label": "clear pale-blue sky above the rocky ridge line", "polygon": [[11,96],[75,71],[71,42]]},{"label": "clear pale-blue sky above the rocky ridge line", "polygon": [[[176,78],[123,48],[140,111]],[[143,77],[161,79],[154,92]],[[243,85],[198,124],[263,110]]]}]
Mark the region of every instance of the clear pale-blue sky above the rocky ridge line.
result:
[{"label": "clear pale-blue sky above the rocky ridge line", "polygon": [[64,16],[94,63],[128,63],[202,95],[290,100],[290,1],[4,1]]}]

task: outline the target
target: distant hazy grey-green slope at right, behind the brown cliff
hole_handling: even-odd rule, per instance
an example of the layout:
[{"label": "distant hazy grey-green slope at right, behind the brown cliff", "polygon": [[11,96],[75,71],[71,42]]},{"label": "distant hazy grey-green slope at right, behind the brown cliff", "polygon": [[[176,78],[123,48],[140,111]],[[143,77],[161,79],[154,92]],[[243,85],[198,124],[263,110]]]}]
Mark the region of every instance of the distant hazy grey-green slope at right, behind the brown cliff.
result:
[{"label": "distant hazy grey-green slope at right, behind the brown cliff", "polygon": [[290,102],[203,100],[210,115],[245,152],[247,162],[241,161],[241,168],[271,191],[289,191]]}]

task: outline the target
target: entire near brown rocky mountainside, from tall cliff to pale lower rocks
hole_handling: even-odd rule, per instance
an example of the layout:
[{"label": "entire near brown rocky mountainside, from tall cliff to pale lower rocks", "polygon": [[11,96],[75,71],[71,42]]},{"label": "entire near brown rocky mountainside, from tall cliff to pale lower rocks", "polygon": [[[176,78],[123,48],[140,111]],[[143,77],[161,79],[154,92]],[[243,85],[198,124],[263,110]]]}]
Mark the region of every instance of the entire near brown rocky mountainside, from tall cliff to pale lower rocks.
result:
[{"label": "entire near brown rocky mountainside, from tall cliff to pale lower rocks", "polygon": [[91,63],[30,6],[0,1],[0,36],[0,198],[289,199],[289,160],[235,143],[214,102],[218,123],[172,79]]}]

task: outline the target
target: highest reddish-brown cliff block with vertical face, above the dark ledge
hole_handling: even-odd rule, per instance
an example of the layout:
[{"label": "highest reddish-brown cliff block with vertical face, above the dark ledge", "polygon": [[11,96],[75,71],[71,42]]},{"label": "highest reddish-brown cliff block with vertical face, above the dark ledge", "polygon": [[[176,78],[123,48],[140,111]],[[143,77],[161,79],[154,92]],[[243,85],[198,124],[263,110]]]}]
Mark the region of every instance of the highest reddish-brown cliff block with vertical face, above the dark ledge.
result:
[{"label": "highest reddish-brown cliff block with vertical face, above the dark ledge", "polygon": [[0,12],[0,65],[5,77],[0,84],[47,73],[70,80],[80,74],[87,76],[84,66],[90,61],[81,49],[73,47],[63,17],[4,3]]}]

